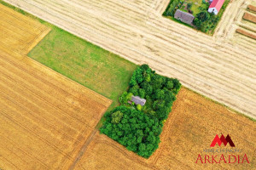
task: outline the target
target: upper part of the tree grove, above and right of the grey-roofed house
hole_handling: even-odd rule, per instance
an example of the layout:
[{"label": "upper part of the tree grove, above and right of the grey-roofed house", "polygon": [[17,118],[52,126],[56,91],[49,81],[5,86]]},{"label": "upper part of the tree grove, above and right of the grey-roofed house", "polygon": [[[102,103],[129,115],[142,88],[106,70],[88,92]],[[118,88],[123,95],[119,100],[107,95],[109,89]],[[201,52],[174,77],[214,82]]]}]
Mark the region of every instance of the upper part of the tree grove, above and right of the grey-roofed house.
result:
[{"label": "upper part of the tree grove, above and right of the grey-roofed house", "polygon": [[172,103],[180,88],[181,83],[177,79],[160,76],[148,65],[141,65],[131,77],[128,93],[125,92],[119,101],[126,105],[132,95],[146,99],[146,105],[137,105],[137,110],[154,116],[161,122],[172,111]]}]

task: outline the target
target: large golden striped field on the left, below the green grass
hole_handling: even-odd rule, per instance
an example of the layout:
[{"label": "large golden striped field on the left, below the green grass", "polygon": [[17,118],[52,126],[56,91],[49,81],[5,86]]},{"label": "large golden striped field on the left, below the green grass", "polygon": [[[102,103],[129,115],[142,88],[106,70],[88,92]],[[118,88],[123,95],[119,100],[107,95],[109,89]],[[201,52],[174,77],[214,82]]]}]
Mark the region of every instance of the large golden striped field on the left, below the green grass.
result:
[{"label": "large golden striped field on the left, below the green grass", "polygon": [[0,169],[68,169],[112,101],[25,55],[47,27],[0,16]]}]

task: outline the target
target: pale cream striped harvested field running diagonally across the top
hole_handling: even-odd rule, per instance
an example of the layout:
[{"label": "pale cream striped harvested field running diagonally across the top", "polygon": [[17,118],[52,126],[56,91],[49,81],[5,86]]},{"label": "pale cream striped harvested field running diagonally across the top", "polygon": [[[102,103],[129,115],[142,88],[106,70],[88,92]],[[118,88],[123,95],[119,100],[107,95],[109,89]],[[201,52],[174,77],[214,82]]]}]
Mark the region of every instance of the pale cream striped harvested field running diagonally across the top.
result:
[{"label": "pale cream striped harvested field running diagonally across the top", "polygon": [[256,42],[234,37],[252,0],[231,1],[213,37],[164,18],[169,0],[5,1],[256,118]]}]

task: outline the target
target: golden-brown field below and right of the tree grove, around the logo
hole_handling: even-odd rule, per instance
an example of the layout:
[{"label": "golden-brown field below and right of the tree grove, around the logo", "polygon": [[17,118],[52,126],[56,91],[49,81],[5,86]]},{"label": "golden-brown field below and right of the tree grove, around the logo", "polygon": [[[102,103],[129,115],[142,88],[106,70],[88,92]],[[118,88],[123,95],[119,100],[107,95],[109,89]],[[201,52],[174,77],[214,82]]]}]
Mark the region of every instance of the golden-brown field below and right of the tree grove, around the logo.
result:
[{"label": "golden-brown field below and right of the tree grove, around the logo", "polygon": [[[230,134],[236,153],[247,154],[249,164],[195,163],[215,135]],[[256,166],[256,123],[209,99],[182,88],[160,136],[160,148],[148,160],[96,133],[74,169],[253,169]],[[228,144],[215,149],[231,149]],[[234,149],[234,148],[233,148]],[[211,154],[208,154],[211,155]],[[217,159],[219,161],[219,157]],[[228,161],[228,160],[227,160]]]}]

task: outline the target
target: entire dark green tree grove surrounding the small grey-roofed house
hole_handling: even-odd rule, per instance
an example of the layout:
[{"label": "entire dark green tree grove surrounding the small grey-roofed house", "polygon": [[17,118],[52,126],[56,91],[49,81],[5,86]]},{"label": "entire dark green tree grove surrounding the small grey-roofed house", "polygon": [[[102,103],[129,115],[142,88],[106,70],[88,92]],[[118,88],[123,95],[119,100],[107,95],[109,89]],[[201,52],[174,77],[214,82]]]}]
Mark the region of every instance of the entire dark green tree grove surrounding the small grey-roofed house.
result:
[{"label": "entire dark green tree grove surrounding the small grey-roofed house", "polygon": [[[119,97],[121,106],[104,115],[106,122],[101,133],[148,158],[158,148],[163,121],[172,111],[181,83],[156,74],[148,65],[141,65],[133,72],[129,84],[128,93]],[[147,99],[146,104],[128,104],[132,95]]]}]

